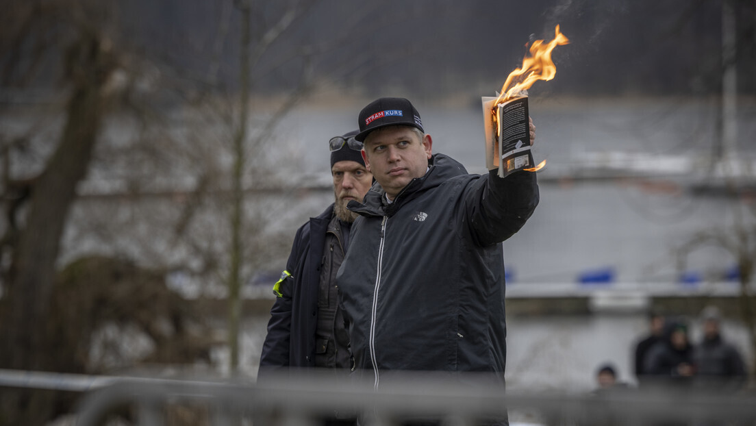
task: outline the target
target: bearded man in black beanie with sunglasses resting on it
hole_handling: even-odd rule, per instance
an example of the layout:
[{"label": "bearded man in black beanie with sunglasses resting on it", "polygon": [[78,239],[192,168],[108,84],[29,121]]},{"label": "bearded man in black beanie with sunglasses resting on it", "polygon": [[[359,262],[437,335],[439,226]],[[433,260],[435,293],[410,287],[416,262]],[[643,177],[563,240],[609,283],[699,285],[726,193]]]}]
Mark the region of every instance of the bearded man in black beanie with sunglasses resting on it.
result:
[{"label": "bearded man in black beanie with sunglasses resting on it", "polygon": [[349,201],[362,201],[373,175],[362,159],[357,131],[329,141],[336,200],[296,232],[287,269],[274,285],[268,335],[260,373],[282,367],[351,368],[349,337],[337,299],[336,272],[349,246],[357,213]]}]

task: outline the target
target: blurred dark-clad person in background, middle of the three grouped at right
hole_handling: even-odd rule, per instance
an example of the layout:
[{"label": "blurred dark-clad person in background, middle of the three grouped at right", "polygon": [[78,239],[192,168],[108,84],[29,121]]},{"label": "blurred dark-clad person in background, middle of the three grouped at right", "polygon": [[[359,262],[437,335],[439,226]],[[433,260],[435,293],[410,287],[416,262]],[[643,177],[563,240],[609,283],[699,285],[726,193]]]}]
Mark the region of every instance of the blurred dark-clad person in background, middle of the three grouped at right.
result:
[{"label": "blurred dark-clad person in background, middle of the three grouped at right", "polygon": [[[689,387],[696,375],[687,326],[677,320],[665,325],[662,340],[652,346],[643,362],[649,382],[659,386]],[[644,382],[646,384],[646,382]]]}]

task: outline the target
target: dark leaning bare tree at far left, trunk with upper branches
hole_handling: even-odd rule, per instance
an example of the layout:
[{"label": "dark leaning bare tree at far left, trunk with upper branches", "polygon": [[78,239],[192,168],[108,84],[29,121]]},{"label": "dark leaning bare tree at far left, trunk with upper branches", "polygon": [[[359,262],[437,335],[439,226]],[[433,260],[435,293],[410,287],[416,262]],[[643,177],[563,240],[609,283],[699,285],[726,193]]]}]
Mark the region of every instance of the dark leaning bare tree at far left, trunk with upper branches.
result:
[{"label": "dark leaning bare tree at far left, trunk with upper branches", "polygon": [[[56,147],[42,173],[26,187],[28,205],[23,227],[16,225],[17,205],[11,205],[6,214],[10,225],[4,241],[11,244],[12,250],[5,250],[11,257],[10,268],[4,274],[5,297],[0,301],[0,334],[4,346],[13,350],[2,351],[0,362],[10,368],[38,369],[45,368],[49,358],[46,328],[60,238],[76,197],[76,185],[87,172],[103,123],[110,95],[107,84],[117,61],[110,38],[89,24],[88,14],[98,12],[91,5],[51,2],[17,6],[14,11],[22,24],[12,39],[3,81],[8,86],[23,86],[29,73],[39,70],[39,64],[59,55],[62,78],[69,87],[64,126]],[[48,34],[58,42],[43,44]],[[17,61],[18,57],[27,61]],[[7,149],[5,154],[10,154]],[[11,182],[9,166],[8,162],[6,183]],[[36,395],[30,399],[18,394],[4,398],[2,408],[8,412],[5,419],[36,424],[50,410],[41,401]],[[13,413],[25,405],[29,407],[29,417],[16,418]]]}]

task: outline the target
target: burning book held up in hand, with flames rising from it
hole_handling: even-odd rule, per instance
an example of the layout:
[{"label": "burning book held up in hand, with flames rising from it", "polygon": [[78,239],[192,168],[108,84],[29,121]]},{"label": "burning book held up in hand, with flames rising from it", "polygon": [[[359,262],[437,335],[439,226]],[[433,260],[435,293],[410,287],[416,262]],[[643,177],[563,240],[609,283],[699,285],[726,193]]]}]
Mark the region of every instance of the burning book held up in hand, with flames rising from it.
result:
[{"label": "burning book held up in hand, with flames rising from it", "polygon": [[535,172],[546,161],[534,165],[531,153],[528,119],[528,92],[538,80],[550,80],[556,75],[556,66],[551,60],[551,51],[557,45],[569,42],[556,26],[554,39],[544,45],[536,40],[530,46],[529,56],[522,59],[522,67],[507,76],[496,97],[483,97],[483,120],[485,123],[485,165],[498,168],[498,175],[507,176],[519,170]]}]

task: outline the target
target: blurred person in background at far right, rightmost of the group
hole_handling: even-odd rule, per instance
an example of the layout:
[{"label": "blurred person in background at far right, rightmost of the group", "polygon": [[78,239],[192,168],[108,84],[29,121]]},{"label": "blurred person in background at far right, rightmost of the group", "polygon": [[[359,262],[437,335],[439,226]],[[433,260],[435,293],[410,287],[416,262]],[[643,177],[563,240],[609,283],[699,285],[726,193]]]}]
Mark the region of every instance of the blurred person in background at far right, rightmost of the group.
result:
[{"label": "blurred person in background at far right, rightmost of the group", "polygon": [[721,314],[715,306],[701,313],[703,337],[693,350],[696,385],[705,391],[736,391],[746,380],[745,364],[740,353],[722,338]]}]

